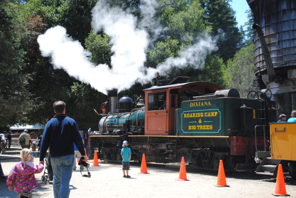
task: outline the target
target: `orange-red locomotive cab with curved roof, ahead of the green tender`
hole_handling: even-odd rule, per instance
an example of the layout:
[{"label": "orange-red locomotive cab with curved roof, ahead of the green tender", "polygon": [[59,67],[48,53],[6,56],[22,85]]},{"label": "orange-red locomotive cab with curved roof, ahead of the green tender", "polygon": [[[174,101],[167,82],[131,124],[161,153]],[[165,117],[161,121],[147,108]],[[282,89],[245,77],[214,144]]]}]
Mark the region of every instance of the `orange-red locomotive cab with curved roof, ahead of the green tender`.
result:
[{"label": "orange-red locomotive cab with curved roof, ahead of the green tender", "polygon": [[208,82],[176,83],[145,89],[145,135],[175,135],[175,112],[193,96],[215,93],[223,87]]}]

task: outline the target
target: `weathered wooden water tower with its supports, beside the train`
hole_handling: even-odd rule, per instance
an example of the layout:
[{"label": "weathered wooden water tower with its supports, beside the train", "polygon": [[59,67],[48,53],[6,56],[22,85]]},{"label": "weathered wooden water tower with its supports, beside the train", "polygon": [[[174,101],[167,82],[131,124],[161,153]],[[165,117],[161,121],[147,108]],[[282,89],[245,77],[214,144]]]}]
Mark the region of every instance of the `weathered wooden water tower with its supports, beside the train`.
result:
[{"label": "weathered wooden water tower with its supports, beside the train", "polygon": [[268,88],[277,114],[296,109],[296,1],[247,0],[254,15],[254,86]]}]

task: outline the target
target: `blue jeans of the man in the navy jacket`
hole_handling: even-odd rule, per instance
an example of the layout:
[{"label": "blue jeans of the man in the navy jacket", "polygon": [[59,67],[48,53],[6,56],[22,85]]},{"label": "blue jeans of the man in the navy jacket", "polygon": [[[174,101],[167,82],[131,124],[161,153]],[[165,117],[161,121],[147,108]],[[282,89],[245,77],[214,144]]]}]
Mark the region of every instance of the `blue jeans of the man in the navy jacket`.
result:
[{"label": "blue jeans of the man in the navy jacket", "polygon": [[52,157],[52,170],[54,172],[54,198],[69,197],[70,194],[70,179],[72,177],[74,154],[65,155],[62,157]]}]

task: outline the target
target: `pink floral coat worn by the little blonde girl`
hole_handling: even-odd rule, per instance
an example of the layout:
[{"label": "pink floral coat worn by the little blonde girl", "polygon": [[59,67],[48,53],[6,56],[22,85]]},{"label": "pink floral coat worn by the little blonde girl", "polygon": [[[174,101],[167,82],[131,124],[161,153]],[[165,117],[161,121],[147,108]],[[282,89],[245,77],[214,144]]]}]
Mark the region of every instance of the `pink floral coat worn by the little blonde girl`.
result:
[{"label": "pink floral coat worn by the little blonde girl", "polygon": [[26,161],[26,167],[23,162],[18,162],[7,177],[7,185],[14,185],[14,191],[23,192],[36,189],[38,187],[35,179],[35,173],[41,173],[44,169],[43,164],[36,165],[34,162]]}]

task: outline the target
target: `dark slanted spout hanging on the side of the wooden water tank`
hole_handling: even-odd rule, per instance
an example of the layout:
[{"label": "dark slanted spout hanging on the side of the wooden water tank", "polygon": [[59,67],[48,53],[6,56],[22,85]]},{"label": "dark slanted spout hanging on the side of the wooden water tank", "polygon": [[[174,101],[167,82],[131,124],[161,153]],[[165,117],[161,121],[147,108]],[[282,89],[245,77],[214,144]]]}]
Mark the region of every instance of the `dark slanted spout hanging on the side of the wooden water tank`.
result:
[{"label": "dark slanted spout hanging on the side of the wooden water tank", "polygon": [[258,33],[258,38],[261,44],[261,49],[262,49],[262,53],[263,53],[263,57],[265,59],[265,63],[266,63],[266,69],[267,69],[267,73],[268,73],[268,79],[271,82],[273,77],[276,76],[276,73],[274,71],[274,66],[272,65],[272,61],[271,61],[271,57],[267,48],[267,44],[264,38],[264,33],[262,31],[262,28],[260,27],[260,25],[258,24],[253,24],[252,28],[257,30]]}]

